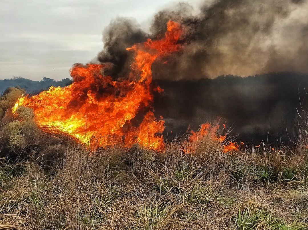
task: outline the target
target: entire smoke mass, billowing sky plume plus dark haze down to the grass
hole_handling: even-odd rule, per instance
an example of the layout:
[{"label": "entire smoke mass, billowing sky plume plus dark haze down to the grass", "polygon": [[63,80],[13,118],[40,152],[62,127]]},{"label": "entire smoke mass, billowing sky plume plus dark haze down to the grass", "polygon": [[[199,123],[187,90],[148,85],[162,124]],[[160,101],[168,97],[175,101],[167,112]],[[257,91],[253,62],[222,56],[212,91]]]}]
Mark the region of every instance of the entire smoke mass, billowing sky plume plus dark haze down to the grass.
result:
[{"label": "entire smoke mass, billowing sky plume plus dark haze down to the grass", "polygon": [[126,48],[160,38],[168,20],[179,22],[182,49],[152,66],[153,84],[164,88],[153,108],[168,135],[222,117],[243,141],[285,142],[296,136],[297,109],[306,105],[307,9],[308,0],[204,1],[197,11],[179,3],[157,12],[149,32],[117,18],[104,30],[98,61],[109,63],[105,74],[128,76],[133,54]]}]

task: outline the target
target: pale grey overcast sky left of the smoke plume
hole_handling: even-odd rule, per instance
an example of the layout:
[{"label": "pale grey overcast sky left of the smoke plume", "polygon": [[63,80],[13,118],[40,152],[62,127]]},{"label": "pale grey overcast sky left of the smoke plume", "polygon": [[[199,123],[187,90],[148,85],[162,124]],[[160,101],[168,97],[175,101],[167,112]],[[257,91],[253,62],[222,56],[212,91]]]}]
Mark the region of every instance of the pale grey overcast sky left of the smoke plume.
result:
[{"label": "pale grey overcast sky left of the smoke plume", "polygon": [[[0,0],[0,79],[70,77],[103,49],[102,30],[117,16],[150,23],[170,0]],[[189,2],[197,2],[190,0]]]}]

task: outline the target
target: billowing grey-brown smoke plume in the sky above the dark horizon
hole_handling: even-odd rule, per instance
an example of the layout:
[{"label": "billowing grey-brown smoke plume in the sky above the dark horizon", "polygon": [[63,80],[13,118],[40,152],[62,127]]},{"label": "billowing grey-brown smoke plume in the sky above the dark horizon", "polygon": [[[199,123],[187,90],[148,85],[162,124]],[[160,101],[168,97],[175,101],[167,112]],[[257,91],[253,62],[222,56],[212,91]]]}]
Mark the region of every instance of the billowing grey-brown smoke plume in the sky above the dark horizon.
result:
[{"label": "billowing grey-brown smoke plume in the sky above the dark horizon", "polygon": [[308,72],[307,0],[220,0],[204,2],[200,13],[179,3],[158,12],[146,34],[132,19],[117,18],[104,31],[100,62],[113,63],[114,77],[132,62],[125,48],[164,34],[168,20],[185,31],[181,52],[153,65],[155,79],[202,79],[247,76],[272,71]]}]

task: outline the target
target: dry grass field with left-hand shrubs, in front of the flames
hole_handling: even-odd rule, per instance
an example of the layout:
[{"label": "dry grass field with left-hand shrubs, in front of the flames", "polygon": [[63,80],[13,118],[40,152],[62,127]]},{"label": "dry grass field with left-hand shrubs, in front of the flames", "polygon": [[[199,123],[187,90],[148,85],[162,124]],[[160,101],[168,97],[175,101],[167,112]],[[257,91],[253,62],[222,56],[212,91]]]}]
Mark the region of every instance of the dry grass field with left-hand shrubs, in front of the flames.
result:
[{"label": "dry grass field with left-hand shrubs, in front of the flames", "polygon": [[185,154],[89,151],[0,100],[0,229],[308,229],[308,143],[223,153],[204,136]]}]

